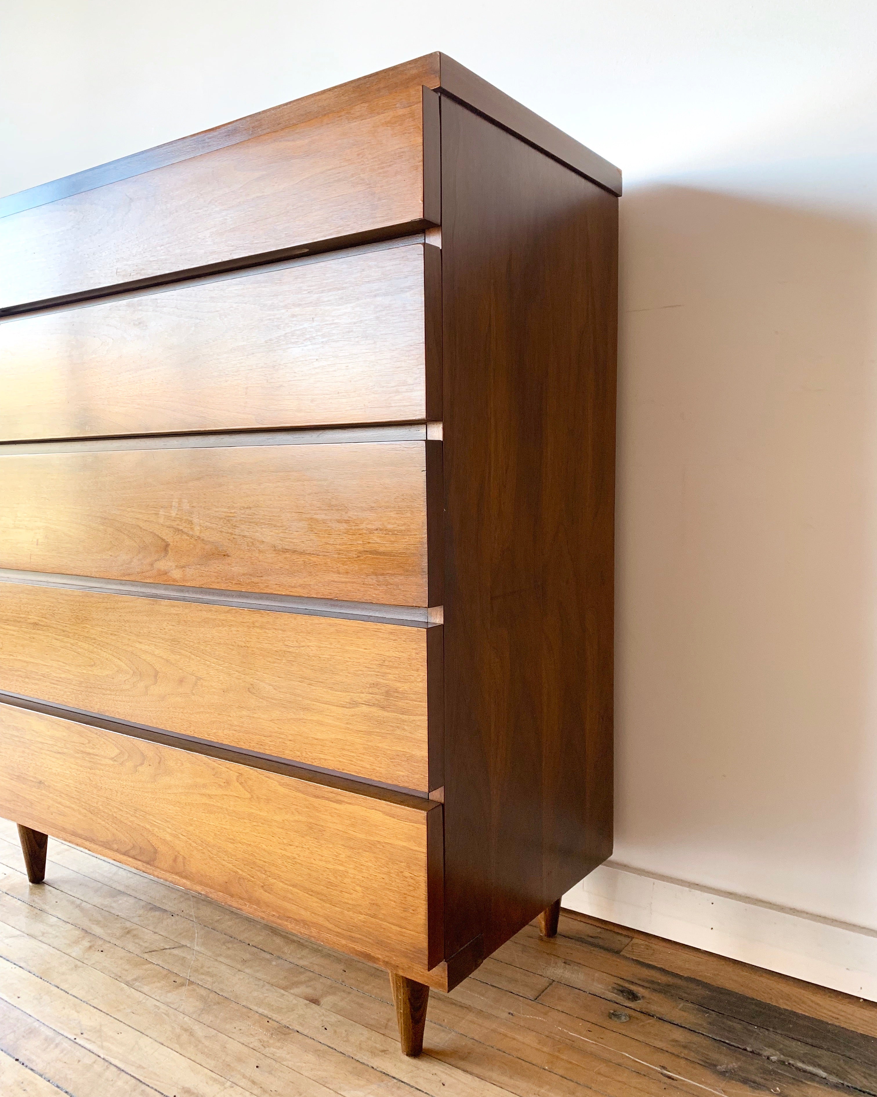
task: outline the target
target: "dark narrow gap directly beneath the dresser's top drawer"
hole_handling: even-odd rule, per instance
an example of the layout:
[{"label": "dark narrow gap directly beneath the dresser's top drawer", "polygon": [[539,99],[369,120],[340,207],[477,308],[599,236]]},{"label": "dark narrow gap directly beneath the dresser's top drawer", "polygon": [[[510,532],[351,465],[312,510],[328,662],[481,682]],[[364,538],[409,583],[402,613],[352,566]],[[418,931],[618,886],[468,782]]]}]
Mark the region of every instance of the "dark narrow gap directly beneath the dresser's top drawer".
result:
[{"label": "dark narrow gap directly beneath the dresser's top drawer", "polygon": [[0,319],[7,316],[24,316],[30,313],[43,312],[47,308],[57,308],[60,305],[80,304],[100,298],[105,301],[119,293],[130,293],[135,290],[157,289],[160,286],[175,285],[178,282],[187,282],[192,279],[207,278],[210,274],[225,274],[230,271],[248,271],[252,267],[263,267],[269,263],[285,262],[287,259],[295,259],[298,256],[314,256],[327,251],[338,251],[342,248],[355,248],[365,244],[377,244],[384,240],[396,239],[402,236],[412,236],[415,233],[423,233],[430,226],[423,219],[411,220],[401,225],[386,225],[381,228],[369,229],[366,233],[352,233],[349,236],[333,236],[324,240],[312,240],[307,245],[296,245],[293,248],[278,248],[276,251],[263,251],[258,256],[241,256],[240,258],[227,259],[220,263],[205,263],[203,267],[190,267],[186,270],[170,271],[168,273],[155,274],[149,278],[134,279],[129,282],[117,282],[113,285],[94,286],[91,290],[80,290],[76,293],[61,294],[59,297],[46,297],[43,301],[27,301],[19,305],[9,305],[0,308]]}]

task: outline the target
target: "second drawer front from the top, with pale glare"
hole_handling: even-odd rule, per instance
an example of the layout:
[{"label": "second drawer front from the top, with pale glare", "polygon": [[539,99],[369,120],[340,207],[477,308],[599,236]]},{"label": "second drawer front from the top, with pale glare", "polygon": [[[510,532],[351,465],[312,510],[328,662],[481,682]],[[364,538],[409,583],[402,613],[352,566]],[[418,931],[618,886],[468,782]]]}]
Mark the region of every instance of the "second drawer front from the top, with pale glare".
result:
[{"label": "second drawer front from the top, with pale glare", "polygon": [[440,264],[408,245],[8,320],[0,439],[441,418]]}]

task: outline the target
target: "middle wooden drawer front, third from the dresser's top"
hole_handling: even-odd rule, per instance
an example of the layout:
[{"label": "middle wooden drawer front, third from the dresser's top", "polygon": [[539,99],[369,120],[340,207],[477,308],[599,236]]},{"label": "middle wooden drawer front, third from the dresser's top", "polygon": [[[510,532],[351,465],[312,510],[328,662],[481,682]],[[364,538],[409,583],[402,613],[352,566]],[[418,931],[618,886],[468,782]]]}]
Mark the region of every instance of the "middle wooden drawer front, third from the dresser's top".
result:
[{"label": "middle wooden drawer front, third from the dresser's top", "polygon": [[425,606],[436,445],[0,455],[0,567]]}]

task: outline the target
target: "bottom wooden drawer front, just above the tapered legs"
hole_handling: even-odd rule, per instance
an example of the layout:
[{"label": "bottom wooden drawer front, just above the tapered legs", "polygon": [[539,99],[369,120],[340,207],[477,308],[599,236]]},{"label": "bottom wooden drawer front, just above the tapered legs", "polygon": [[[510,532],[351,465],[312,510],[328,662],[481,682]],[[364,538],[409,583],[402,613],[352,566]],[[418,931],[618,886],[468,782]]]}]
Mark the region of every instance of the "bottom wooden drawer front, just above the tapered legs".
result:
[{"label": "bottom wooden drawer front, just above the tapered legs", "polygon": [[5,818],[333,948],[431,968],[442,808],[390,796],[0,704]]}]

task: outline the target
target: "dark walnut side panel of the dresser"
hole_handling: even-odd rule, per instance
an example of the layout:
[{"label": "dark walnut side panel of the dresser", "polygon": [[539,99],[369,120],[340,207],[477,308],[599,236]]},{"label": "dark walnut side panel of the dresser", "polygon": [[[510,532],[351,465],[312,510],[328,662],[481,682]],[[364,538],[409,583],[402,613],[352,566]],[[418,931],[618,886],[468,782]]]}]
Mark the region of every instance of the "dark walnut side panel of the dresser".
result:
[{"label": "dark walnut side panel of the dresser", "polygon": [[449,99],[442,171],[445,945],[489,954],[612,850],[617,201]]}]

